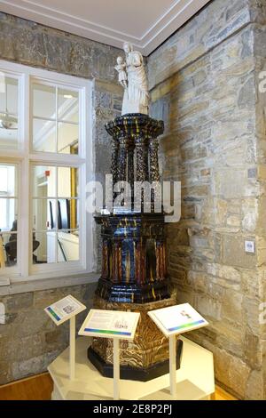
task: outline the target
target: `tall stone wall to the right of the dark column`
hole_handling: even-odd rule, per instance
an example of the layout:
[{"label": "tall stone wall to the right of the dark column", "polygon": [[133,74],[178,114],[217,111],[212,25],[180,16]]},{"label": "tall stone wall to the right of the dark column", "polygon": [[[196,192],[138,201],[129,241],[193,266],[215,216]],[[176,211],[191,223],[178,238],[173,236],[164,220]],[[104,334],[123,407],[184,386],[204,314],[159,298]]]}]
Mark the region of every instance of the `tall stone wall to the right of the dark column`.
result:
[{"label": "tall stone wall to the right of the dark column", "polygon": [[[215,356],[239,398],[266,397],[265,2],[213,0],[148,58],[152,116],[166,125],[164,180],[182,181],[182,220],[168,227],[179,302],[210,326],[189,334]],[[262,95],[261,95],[262,96]],[[256,253],[244,251],[254,240]],[[264,356],[264,357],[263,357]]]}]

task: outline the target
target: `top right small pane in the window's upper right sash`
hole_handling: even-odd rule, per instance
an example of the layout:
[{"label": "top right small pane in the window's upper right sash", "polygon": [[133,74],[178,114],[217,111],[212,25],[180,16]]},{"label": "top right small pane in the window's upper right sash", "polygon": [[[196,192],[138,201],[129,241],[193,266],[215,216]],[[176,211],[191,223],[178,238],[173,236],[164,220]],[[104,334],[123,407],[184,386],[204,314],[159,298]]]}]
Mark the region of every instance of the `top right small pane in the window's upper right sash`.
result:
[{"label": "top right small pane in the window's upper right sash", "polygon": [[66,122],[79,122],[79,93],[59,89],[58,119]]}]

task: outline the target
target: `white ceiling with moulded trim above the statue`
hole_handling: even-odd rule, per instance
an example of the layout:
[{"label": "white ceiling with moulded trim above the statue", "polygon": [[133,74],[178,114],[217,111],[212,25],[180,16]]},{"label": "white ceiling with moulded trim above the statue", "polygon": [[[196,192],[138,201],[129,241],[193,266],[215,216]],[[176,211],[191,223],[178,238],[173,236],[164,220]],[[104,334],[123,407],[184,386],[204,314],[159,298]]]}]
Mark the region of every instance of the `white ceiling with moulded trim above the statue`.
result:
[{"label": "white ceiling with moulded trim above the statue", "polygon": [[0,0],[0,11],[144,55],[210,0]]}]

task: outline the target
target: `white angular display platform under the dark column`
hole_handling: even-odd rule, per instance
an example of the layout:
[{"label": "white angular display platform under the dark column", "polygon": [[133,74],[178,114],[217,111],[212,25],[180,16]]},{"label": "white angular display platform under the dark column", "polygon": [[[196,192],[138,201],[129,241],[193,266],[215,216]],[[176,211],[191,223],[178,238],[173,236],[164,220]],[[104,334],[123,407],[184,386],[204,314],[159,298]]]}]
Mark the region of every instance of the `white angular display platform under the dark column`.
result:
[{"label": "white angular display platform under the dark column", "polygon": [[[176,397],[169,393],[169,374],[150,382],[122,381],[121,399],[207,400],[215,392],[213,354],[183,336],[182,366],[176,371]],[[103,377],[87,358],[90,338],[76,340],[75,379],[68,378],[69,349],[48,367],[54,382],[53,400],[112,400],[113,379]]]}]

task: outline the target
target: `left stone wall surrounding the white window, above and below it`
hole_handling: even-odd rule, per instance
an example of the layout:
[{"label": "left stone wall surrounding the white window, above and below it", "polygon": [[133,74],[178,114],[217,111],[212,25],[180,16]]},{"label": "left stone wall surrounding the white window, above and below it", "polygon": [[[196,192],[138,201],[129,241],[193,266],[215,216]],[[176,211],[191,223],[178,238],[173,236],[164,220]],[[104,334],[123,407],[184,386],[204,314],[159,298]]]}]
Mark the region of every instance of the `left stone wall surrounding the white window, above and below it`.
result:
[{"label": "left stone wall surrounding the white window, above and below it", "polygon": [[[117,116],[121,109],[121,87],[115,80],[113,69],[118,52],[105,44],[0,13],[1,60],[95,80],[93,146],[95,173],[100,181],[105,173],[109,173],[111,163],[110,141],[104,124]],[[96,241],[94,256],[97,269],[100,260],[99,241]],[[54,326],[43,308],[69,293],[88,308],[91,307],[95,284],[54,290],[52,287],[51,281],[51,290],[0,296],[7,321],[6,325],[0,325],[0,384],[43,372],[52,359],[66,348],[67,325]],[[6,293],[12,293],[12,289],[6,287]],[[83,318],[84,314],[79,315],[77,326]]]}]

